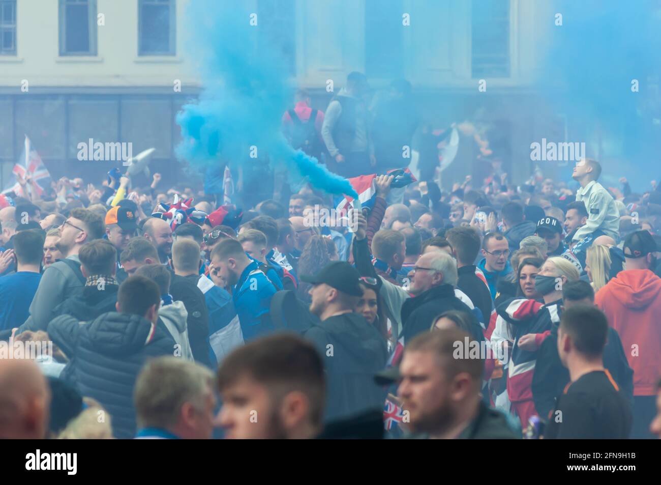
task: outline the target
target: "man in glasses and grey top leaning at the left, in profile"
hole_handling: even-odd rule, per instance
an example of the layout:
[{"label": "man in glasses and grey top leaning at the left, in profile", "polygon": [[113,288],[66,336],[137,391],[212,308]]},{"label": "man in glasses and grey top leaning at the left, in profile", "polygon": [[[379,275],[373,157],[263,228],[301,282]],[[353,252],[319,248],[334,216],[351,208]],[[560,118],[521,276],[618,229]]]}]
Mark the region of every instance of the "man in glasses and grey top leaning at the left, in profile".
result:
[{"label": "man in glasses and grey top leaning at the left, in profile", "polygon": [[[30,305],[30,316],[17,333],[25,330],[46,330],[48,322],[54,317],[54,308],[85,285],[78,253],[83,244],[102,238],[103,232],[103,220],[100,216],[84,208],[71,210],[71,214],[59,228],[59,239],[56,242],[65,259],[59,259],[44,271]],[[3,337],[4,335],[0,335],[0,338]]]}]

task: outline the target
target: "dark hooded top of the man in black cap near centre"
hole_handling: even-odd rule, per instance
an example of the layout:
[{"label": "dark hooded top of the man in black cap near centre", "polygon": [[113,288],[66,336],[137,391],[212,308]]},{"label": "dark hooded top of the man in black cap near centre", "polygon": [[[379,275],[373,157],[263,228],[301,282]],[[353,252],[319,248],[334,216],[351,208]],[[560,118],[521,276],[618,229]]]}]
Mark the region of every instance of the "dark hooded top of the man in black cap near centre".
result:
[{"label": "dark hooded top of the man in black cap near centre", "polygon": [[325,421],[383,410],[386,391],[374,382],[388,359],[385,339],[362,315],[345,313],[314,324],[305,332],[324,359]]}]

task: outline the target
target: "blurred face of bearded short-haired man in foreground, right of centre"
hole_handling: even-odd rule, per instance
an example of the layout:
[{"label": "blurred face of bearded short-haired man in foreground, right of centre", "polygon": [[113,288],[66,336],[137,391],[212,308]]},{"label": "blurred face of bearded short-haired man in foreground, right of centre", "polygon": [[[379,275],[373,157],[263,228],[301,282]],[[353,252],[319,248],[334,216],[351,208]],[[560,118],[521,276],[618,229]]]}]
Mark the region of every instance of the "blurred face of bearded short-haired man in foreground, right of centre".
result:
[{"label": "blurred face of bearded short-haired man in foreground, right of centre", "polygon": [[447,380],[432,352],[405,352],[397,395],[415,431],[433,431],[452,419]]}]

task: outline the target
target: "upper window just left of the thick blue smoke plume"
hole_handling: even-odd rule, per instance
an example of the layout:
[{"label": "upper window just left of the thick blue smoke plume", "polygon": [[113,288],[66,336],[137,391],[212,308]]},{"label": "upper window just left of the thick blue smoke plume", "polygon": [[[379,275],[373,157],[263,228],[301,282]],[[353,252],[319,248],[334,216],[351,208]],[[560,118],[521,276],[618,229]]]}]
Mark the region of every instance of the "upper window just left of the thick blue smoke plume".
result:
[{"label": "upper window just left of the thick blue smoke plume", "polygon": [[175,0],[140,0],[137,17],[137,54],[175,56]]}]

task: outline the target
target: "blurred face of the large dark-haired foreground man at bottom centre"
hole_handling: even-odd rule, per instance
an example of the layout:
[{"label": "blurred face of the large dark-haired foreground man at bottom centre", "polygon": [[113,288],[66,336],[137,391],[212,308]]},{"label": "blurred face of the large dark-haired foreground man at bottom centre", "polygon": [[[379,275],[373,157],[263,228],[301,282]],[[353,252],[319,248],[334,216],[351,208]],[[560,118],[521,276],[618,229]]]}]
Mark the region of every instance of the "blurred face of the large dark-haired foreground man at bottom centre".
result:
[{"label": "blurred face of the large dark-haired foreground man at bottom centre", "polygon": [[277,405],[264,384],[243,375],[220,392],[218,416],[227,439],[282,439],[286,437]]}]

